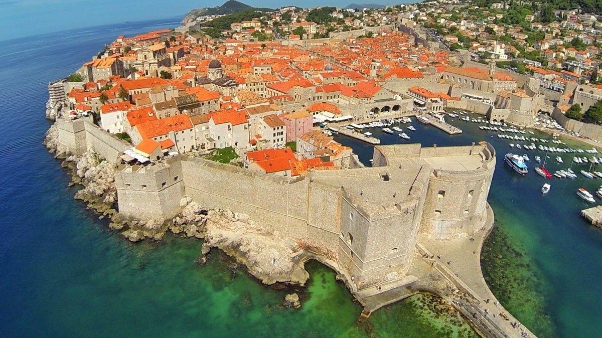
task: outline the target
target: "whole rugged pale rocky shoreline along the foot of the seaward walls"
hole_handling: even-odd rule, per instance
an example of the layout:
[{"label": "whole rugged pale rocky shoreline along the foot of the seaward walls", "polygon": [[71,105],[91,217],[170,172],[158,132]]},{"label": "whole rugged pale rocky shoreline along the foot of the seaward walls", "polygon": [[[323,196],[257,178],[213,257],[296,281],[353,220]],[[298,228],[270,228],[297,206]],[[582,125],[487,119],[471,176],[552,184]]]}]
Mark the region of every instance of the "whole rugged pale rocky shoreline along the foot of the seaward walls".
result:
[{"label": "whole rugged pale rocky shoreline along the foot of the seaward walls", "polygon": [[[47,110],[48,116],[48,110]],[[54,118],[53,118],[54,119]],[[255,224],[248,215],[229,210],[205,209],[190,197],[181,199],[181,212],[169,220],[128,220],[117,210],[116,166],[92,149],[71,155],[58,143],[57,124],[52,124],[43,141],[61,167],[71,173],[69,186],[81,185],[75,198],[95,210],[99,219],[110,220],[109,227],[131,242],[160,241],[167,232],[182,238],[204,239],[198,263],[206,261],[211,248],[218,248],[247,267],[253,277],[264,284],[303,286],[309,278],[303,267],[306,244],[273,235]],[[285,305],[299,308],[298,299],[289,297]]]}]

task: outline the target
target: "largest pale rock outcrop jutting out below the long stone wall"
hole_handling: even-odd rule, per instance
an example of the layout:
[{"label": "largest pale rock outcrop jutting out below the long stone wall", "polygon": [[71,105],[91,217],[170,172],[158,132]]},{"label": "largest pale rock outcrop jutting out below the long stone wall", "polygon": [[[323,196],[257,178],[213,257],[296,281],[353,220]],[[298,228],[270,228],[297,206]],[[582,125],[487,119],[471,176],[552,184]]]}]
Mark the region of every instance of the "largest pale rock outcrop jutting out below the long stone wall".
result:
[{"label": "largest pale rock outcrop jutting out below the long stone wall", "polygon": [[247,215],[226,210],[209,210],[205,222],[205,244],[235,257],[249,273],[264,284],[288,282],[305,284],[309,274],[303,268],[303,250],[295,241],[267,233]]}]

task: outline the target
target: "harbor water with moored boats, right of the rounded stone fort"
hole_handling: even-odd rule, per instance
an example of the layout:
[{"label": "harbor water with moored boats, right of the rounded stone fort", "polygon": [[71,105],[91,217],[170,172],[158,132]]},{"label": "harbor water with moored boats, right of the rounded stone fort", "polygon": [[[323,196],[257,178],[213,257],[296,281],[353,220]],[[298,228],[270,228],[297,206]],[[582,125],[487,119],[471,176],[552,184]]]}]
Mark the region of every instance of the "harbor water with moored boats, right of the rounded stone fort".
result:
[{"label": "harbor water with moored boats, right of the rounded stone fort", "polygon": [[[595,153],[597,150],[591,145],[572,138],[554,137],[549,132],[509,124],[488,123],[482,115],[462,112],[464,114],[458,117],[445,116],[450,124],[462,129],[463,133],[458,135],[441,133],[422,123],[412,123],[417,130],[408,132],[410,140],[403,140],[380,128],[371,132],[381,144],[460,146],[483,140],[491,143],[498,156],[488,199],[495,210],[495,223],[481,256],[483,275],[489,289],[497,301],[536,336],[596,336],[598,319],[592,314],[602,311],[602,304],[592,302],[592,297],[602,297],[597,282],[602,277],[597,272],[584,274],[583,271],[591,271],[591,266],[602,268],[602,261],[596,256],[602,257],[602,231],[591,226],[580,214],[583,209],[602,204],[602,199],[595,196],[602,179],[588,179],[580,171],[589,172],[590,166],[592,172],[602,171],[602,164],[590,161],[595,157],[600,162],[602,154]],[[508,138],[498,137],[498,134]],[[371,165],[373,147],[370,144],[344,135],[334,137],[352,147],[364,165]],[[535,149],[530,149],[531,143],[535,144]],[[521,149],[517,150],[517,144],[521,145]],[[528,146],[527,149],[524,145]],[[507,153],[521,157],[527,155],[530,161],[525,162],[529,173],[523,176],[505,164],[503,158]],[[540,164],[536,162],[536,156],[540,158]],[[562,163],[557,161],[557,157],[562,159]],[[582,164],[573,162],[574,157],[581,158]],[[586,163],[583,157],[588,159]],[[535,171],[535,167],[544,161],[552,173],[550,179]],[[568,169],[573,170],[577,177],[569,179],[553,175],[556,171]],[[542,192],[545,183],[550,185],[547,193]],[[579,197],[576,193],[579,188],[592,192],[596,203]],[[436,250],[432,250],[432,254],[436,256]],[[445,258],[441,261],[462,277],[462,269],[455,260],[450,265]],[[582,292],[584,287],[588,293]],[[559,307],[566,312],[557,312]]]}]

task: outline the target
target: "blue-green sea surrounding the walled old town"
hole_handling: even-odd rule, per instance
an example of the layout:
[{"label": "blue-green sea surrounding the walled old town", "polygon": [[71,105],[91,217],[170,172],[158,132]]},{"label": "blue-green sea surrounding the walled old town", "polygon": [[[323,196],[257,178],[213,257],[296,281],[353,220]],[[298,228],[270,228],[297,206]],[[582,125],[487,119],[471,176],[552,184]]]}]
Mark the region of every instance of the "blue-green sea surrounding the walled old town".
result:
[{"label": "blue-green sea surrounding the walled old town", "polygon": [[[308,287],[266,287],[217,251],[197,266],[200,241],[123,241],[73,200],[77,188],[67,188],[69,176],[42,146],[50,125],[46,85],[117,35],[177,24],[123,23],[0,42],[0,336],[474,337],[436,298],[412,297],[360,323],[360,307],[318,263],[308,263]],[[498,227],[483,268],[504,306],[541,337],[602,336],[602,232],[579,218],[585,204],[574,194],[602,180],[554,181],[542,197],[541,177],[509,171],[500,160],[509,148],[474,124],[455,122],[465,130],[455,137],[413,124],[410,141],[425,146],[488,140],[498,150],[489,197]],[[385,144],[400,141],[375,134]],[[370,147],[340,140],[368,162]],[[300,310],[281,306],[292,291],[301,295]]]}]

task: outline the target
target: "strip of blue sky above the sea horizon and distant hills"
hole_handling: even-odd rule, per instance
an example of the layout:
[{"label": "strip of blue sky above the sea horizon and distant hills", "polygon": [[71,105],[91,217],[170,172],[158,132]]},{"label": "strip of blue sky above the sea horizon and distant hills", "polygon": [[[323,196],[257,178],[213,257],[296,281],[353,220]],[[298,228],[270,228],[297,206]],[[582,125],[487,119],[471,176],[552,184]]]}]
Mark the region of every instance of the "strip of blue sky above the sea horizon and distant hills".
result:
[{"label": "strip of blue sky above the sea horizon and distant hills", "polygon": [[[214,7],[226,0],[0,0],[0,41],[75,28],[184,17],[193,8]],[[239,0],[240,1],[240,0]],[[255,7],[287,5],[316,7],[320,0],[242,0]],[[332,0],[329,6],[351,3],[399,4],[405,0]]]}]

